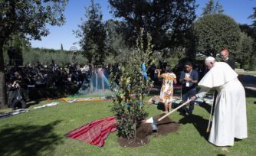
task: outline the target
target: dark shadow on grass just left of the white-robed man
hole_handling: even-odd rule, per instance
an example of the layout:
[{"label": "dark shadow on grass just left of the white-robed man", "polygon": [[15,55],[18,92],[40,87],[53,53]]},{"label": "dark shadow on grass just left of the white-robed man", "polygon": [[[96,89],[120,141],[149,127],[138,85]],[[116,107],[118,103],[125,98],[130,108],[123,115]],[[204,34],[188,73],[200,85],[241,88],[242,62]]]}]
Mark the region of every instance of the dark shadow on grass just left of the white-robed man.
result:
[{"label": "dark shadow on grass just left of the white-robed man", "polygon": [[180,119],[179,122],[183,125],[191,123],[195,126],[199,134],[208,141],[208,133],[206,132],[208,120],[203,119],[199,115],[187,115],[184,118]]}]

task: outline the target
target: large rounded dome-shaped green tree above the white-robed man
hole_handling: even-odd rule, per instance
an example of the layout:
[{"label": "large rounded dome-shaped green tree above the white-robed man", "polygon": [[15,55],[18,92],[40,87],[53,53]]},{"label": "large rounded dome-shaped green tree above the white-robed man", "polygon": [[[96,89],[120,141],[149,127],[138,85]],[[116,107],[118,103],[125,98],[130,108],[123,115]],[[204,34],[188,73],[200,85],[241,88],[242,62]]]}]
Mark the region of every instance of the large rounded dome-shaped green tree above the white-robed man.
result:
[{"label": "large rounded dome-shaped green tree above the white-robed man", "polygon": [[192,25],[192,45],[196,52],[216,57],[224,48],[238,51],[240,33],[238,24],[227,15],[205,15]]}]

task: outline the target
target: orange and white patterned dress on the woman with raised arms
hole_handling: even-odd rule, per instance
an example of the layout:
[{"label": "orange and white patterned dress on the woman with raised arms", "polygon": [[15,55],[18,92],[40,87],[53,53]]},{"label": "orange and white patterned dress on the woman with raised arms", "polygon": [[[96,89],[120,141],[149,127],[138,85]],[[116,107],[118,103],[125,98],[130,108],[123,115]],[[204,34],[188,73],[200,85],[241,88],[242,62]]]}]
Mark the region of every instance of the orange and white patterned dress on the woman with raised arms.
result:
[{"label": "orange and white patterned dress on the woman with raised arms", "polygon": [[163,78],[163,81],[160,93],[160,100],[164,103],[172,102],[173,80],[176,79],[176,75],[174,73],[162,73],[161,77]]}]

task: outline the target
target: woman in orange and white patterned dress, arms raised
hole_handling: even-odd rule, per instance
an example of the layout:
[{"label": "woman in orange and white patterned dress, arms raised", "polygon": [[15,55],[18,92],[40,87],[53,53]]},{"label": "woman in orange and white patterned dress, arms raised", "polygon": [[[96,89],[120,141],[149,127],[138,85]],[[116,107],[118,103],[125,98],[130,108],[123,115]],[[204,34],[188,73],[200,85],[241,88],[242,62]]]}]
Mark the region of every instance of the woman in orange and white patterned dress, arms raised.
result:
[{"label": "woman in orange and white patterned dress, arms raised", "polygon": [[160,92],[160,101],[165,104],[165,113],[168,113],[172,109],[172,96],[173,96],[173,83],[176,84],[176,75],[172,73],[171,67],[166,67],[166,72],[160,75],[158,72],[158,78],[162,78],[162,88]]}]

